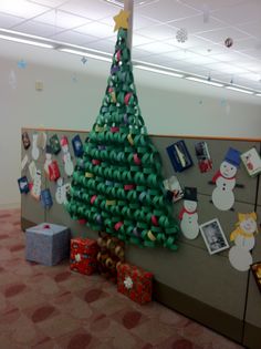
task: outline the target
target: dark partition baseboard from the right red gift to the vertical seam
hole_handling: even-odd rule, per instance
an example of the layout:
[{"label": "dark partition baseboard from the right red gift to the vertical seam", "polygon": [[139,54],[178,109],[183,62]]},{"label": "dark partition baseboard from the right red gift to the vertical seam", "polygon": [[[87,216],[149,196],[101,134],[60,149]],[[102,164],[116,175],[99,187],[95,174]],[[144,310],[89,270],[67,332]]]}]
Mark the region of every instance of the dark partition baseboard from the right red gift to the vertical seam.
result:
[{"label": "dark partition baseboard from the right red gift to the vertical seam", "polygon": [[[167,285],[155,281],[155,300],[203,326],[241,343],[243,320],[181,294]],[[259,347],[260,349],[261,347]]]}]

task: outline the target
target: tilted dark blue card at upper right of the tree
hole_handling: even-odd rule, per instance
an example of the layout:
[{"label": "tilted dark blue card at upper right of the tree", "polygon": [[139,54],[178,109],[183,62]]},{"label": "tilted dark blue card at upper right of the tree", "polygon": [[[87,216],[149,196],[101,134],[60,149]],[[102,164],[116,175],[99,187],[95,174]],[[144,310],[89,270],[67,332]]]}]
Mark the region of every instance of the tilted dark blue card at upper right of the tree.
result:
[{"label": "tilted dark blue card at upper right of the tree", "polygon": [[185,141],[178,141],[169,145],[167,153],[176,172],[182,172],[194,164]]}]

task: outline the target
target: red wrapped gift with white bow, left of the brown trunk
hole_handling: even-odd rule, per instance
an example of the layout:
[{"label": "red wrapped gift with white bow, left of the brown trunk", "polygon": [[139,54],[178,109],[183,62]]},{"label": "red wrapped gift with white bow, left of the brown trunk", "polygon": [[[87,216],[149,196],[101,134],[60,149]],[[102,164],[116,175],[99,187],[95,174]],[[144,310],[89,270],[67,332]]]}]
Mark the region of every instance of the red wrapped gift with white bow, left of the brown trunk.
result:
[{"label": "red wrapped gift with white bow, left of the brown trunk", "polygon": [[97,268],[98,245],[90,238],[71,239],[70,268],[81,274],[91,275]]}]

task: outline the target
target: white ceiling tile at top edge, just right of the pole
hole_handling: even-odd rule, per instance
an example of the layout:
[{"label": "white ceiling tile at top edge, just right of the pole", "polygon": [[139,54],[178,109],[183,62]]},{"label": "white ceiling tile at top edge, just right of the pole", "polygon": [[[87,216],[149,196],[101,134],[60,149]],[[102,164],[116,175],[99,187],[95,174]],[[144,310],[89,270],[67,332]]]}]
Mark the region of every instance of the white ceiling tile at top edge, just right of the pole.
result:
[{"label": "white ceiling tile at top edge, just right of the pole", "polygon": [[197,10],[174,0],[159,0],[143,8],[138,8],[137,11],[139,14],[163,22],[196,16],[199,13]]}]

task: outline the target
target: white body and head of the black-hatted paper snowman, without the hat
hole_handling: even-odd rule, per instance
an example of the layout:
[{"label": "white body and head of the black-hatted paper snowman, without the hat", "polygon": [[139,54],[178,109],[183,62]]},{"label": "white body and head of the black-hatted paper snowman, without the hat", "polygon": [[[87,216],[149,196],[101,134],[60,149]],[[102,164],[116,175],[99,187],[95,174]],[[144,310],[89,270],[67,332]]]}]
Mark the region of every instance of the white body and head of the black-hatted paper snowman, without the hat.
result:
[{"label": "white body and head of the black-hatted paper snowman, without the hat", "polygon": [[199,234],[197,202],[185,199],[184,208],[179,214],[180,229],[188,239],[195,239]]}]

